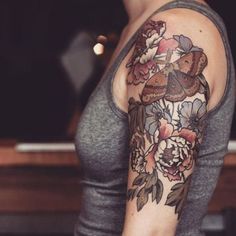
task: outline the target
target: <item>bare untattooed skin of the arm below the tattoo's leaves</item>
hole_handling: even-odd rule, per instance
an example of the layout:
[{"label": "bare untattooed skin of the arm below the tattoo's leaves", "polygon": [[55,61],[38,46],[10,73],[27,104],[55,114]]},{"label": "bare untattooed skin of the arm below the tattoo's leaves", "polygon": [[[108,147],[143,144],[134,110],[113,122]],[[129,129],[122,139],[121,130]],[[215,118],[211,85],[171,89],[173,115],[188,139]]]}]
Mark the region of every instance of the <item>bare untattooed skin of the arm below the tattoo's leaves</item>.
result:
[{"label": "bare untattooed skin of the arm below the tattoo's leaves", "polygon": [[[136,176],[130,169],[128,189],[134,187],[133,183]],[[164,177],[160,174],[159,178],[164,181]],[[165,206],[167,196],[173,185],[173,182],[165,184],[162,193],[163,198],[159,204],[156,204],[156,200],[152,201],[152,196],[149,195],[149,201],[152,202],[145,204],[142,210],[137,211],[137,201],[127,201],[122,236],[174,236],[178,224],[178,215],[175,214],[174,208]]]}]

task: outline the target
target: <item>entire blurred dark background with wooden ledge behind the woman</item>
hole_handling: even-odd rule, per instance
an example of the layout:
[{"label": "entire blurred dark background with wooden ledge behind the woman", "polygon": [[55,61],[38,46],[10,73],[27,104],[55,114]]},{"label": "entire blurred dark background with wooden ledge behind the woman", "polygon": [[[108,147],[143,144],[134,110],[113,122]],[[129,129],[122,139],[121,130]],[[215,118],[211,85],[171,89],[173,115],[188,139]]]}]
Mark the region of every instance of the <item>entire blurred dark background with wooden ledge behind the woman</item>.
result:
[{"label": "entire blurred dark background with wooden ledge behind the woman", "polygon": [[[208,3],[236,55],[232,2]],[[0,0],[0,235],[72,235],[77,122],[126,23],[121,0]],[[207,235],[236,235],[235,159],[227,156]]]}]

